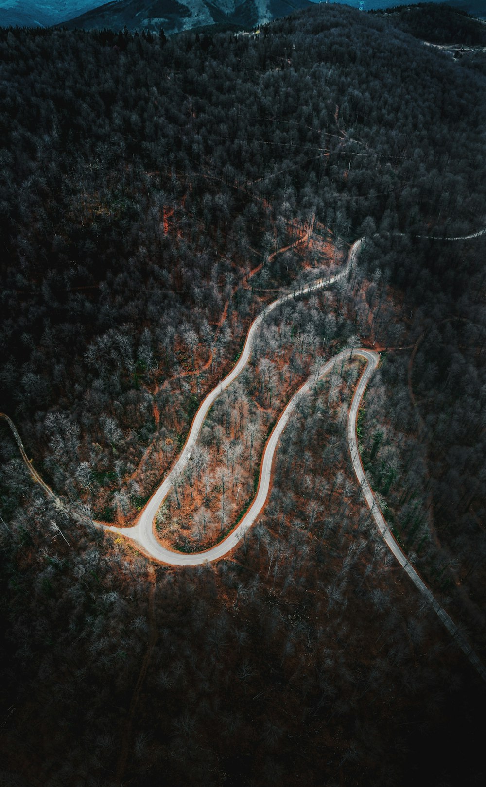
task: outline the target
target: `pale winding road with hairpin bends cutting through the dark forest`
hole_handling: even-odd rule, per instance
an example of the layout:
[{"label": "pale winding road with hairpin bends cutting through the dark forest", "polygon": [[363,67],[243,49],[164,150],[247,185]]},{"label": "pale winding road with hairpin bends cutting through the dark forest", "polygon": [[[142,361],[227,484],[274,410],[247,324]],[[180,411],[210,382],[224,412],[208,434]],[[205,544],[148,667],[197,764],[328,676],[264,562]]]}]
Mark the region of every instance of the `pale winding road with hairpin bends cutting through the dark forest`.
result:
[{"label": "pale winding road with hairpin bends cutting through the dark forest", "polygon": [[[483,235],[486,232],[486,228],[481,230],[477,233],[472,235],[466,235],[462,238],[443,238],[447,240],[466,240],[469,238],[477,238],[480,235]],[[310,283],[306,286],[302,286],[299,288],[298,291],[294,291],[291,294],[286,294],[283,297],[278,298],[273,303],[269,304],[268,306],[263,309],[261,314],[259,314],[253,323],[250,325],[250,329],[247,333],[247,339],[245,345],[243,346],[242,353],[236,363],[236,365],[232,368],[232,371],[217,384],[217,386],[206,396],[202,404],[198,408],[198,412],[196,412],[195,417],[191,424],[191,429],[189,434],[187,435],[187,440],[185,442],[184,448],[180,453],[179,459],[174,464],[172,470],[169,474],[165,477],[164,481],[161,483],[161,486],[158,487],[158,490],[154,492],[150,500],[148,501],[145,508],[143,508],[142,513],[139,516],[138,522],[135,523],[132,527],[114,527],[113,525],[106,525],[104,523],[95,522],[88,520],[84,515],[76,515],[76,512],[73,512],[76,516],[76,519],[81,519],[83,521],[92,523],[95,527],[102,528],[103,530],[109,530],[112,533],[116,533],[118,535],[123,536],[124,538],[128,538],[131,541],[135,542],[135,545],[144,552],[147,556],[154,560],[159,560],[162,563],[167,563],[172,566],[196,566],[201,565],[202,563],[208,563],[213,560],[218,560],[219,558],[231,552],[232,549],[239,544],[253,525],[255,519],[257,519],[262,509],[265,507],[265,501],[268,497],[269,487],[270,487],[270,480],[271,480],[271,472],[272,472],[272,463],[273,463],[273,456],[276,451],[276,445],[279,441],[280,435],[284,431],[285,427],[288,424],[289,419],[291,419],[292,413],[295,411],[295,406],[297,401],[299,401],[302,394],[305,394],[310,388],[316,384],[319,379],[322,379],[332,368],[335,367],[339,361],[342,361],[345,357],[347,357],[350,350],[343,350],[342,352],[338,353],[335,357],[331,360],[328,360],[326,364],[324,364],[317,373],[314,373],[310,379],[308,379],[294,394],[291,400],[288,402],[288,405],[282,412],[280,418],[276,422],[275,427],[273,428],[272,433],[265,445],[265,451],[262,456],[262,464],[260,469],[260,478],[258,482],[258,490],[254,497],[254,501],[250,505],[250,508],[243,516],[243,519],[239,523],[239,525],[232,530],[232,532],[224,538],[223,541],[220,541],[216,546],[213,546],[211,549],[207,549],[204,552],[198,552],[193,554],[184,554],[180,552],[173,552],[170,549],[166,549],[161,545],[154,534],[154,519],[160,508],[162,502],[165,500],[165,497],[169,493],[172,488],[172,480],[176,474],[182,473],[184,471],[184,467],[186,467],[187,462],[191,460],[191,452],[195,446],[195,442],[198,438],[199,431],[201,430],[202,423],[206,418],[213,402],[217,399],[221,391],[227,388],[231,383],[238,377],[243,368],[250,360],[250,353],[254,342],[254,336],[258,331],[263,320],[265,320],[265,316],[267,316],[270,312],[273,312],[274,309],[277,309],[280,305],[284,305],[287,301],[291,301],[295,299],[295,297],[302,297],[303,295],[310,294],[315,290],[322,290],[325,287],[331,286],[332,284],[338,282],[340,279],[343,279],[348,273],[351,271],[351,268],[354,265],[354,261],[356,260],[356,256],[358,254],[359,249],[362,246],[362,238],[358,241],[354,242],[353,246],[351,246],[350,253],[348,256],[347,264],[342,268],[342,270],[329,277],[328,279],[317,279],[313,283]],[[380,512],[380,508],[377,504],[377,500],[374,497],[373,491],[369,486],[369,482],[366,479],[365,471],[362,467],[361,457],[358,451],[358,441],[356,436],[356,422],[358,419],[358,411],[361,405],[363,394],[365,393],[366,386],[373,375],[373,372],[377,368],[379,363],[380,357],[379,354],[369,350],[369,349],[353,349],[351,354],[354,353],[360,357],[363,357],[366,360],[366,367],[365,371],[363,371],[361,378],[359,379],[358,386],[354,392],[354,397],[351,401],[351,408],[348,417],[347,423],[347,440],[351,452],[351,461],[354,468],[354,474],[358,479],[358,483],[361,487],[362,494],[365,497],[365,501],[369,506],[370,513],[373,516],[374,522],[377,525],[377,529],[379,530],[385,544],[390,549],[395,559],[398,560],[400,565],[403,567],[406,574],[409,575],[414,585],[420,591],[422,596],[427,600],[428,604],[432,607],[432,609],[436,612],[439,616],[440,620],[442,621],[443,625],[446,626],[449,633],[454,637],[454,640],[458,643],[459,647],[462,648],[462,651],[466,653],[466,656],[469,659],[469,662],[472,663],[473,667],[477,670],[480,674],[480,677],[483,678],[484,682],[486,682],[486,668],[484,667],[483,663],[477,657],[476,653],[473,652],[473,649],[470,647],[466,638],[462,635],[462,633],[458,630],[458,626],[454,623],[447,612],[440,606],[439,602],[433,596],[432,592],[428,589],[425,585],[425,582],[421,579],[420,575],[416,571],[416,569],[411,565],[410,560],[406,557],[403,550],[400,548],[397,541],[391,534],[388,524],[386,523],[384,516]],[[20,435],[17,432],[13,421],[6,416],[4,413],[0,413],[0,416],[6,419],[7,423],[9,423],[9,427],[13,431],[14,437],[17,441],[17,445],[19,446],[20,453],[24,459],[25,464],[27,464],[28,469],[34,478],[35,482],[38,482],[41,486],[43,486],[43,490],[52,498],[54,498],[54,502],[64,508],[63,504],[61,503],[58,496],[50,489],[49,486],[43,482],[43,479],[40,477],[39,473],[35,471],[35,468],[32,467],[31,462],[28,460],[28,456],[25,453],[24,445],[20,439]]]}]

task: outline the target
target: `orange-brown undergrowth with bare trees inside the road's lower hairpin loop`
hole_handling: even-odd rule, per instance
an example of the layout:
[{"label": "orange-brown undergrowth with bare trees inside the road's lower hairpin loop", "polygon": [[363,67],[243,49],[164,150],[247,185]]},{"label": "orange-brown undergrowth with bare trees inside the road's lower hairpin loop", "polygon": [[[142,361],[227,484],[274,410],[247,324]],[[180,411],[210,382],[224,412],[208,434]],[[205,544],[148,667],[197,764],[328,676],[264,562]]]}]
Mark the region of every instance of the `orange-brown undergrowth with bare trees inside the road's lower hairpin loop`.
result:
[{"label": "orange-brown undergrowth with bare trees inside the road's lower hairpin loop", "polygon": [[[262,395],[262,371],[250,367],[247,390],[236,382],[234,390],[228,389],[214,405],[191,457],[193,467],[185,478],[180,477],[159,512],[157,529],[165,546],[184,552],[208,549],[224,538],[249,508],[267,438],[288,400],[310,374],[309,360],[300,373],[289,375],[288,353],[282,354],[280,363],[275,361],[274,371],[279,375],[276,396]],[[314,358],[314,367],[323,361]],[[339,364],[328,379],[319,383],[323,407],[328,412],[341,405],[344,392],[352,389],[361,366],[358,358],[352,364]],[[236,407],[231,408],[232,403]],[[301,407],[305,407],[303,400],[297,405],[297,416]],[[247,426],[242,430],[243,423]],[[309,457],[302,461],[306,465]]]}]

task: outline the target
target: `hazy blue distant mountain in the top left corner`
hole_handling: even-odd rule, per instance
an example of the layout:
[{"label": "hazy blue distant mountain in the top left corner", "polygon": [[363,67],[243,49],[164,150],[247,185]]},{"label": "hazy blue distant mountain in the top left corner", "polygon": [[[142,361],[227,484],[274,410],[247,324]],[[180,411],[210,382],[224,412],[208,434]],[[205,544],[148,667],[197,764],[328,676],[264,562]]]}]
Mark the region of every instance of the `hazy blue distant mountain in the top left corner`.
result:
[{"label": "hazy blue distant mountain in the top left corner", "polygon": [[95,6],[96,0],[0,0],[0,26],[46,28]]}]

